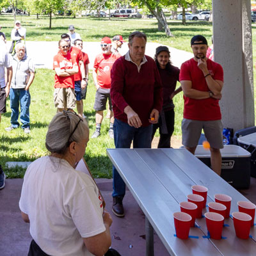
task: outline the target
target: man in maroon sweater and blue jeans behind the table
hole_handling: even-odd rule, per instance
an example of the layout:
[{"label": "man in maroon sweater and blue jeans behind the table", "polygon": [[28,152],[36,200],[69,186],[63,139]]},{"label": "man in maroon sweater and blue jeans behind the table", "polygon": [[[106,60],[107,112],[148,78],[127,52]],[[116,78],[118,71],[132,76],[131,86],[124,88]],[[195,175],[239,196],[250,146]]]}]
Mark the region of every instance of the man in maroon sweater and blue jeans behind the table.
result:
[{"label": "man in maroon sweater and blue jeans behind the table", "polygon": [[[163,106],[162,82],[155,61],[145,55],[147,36],[129,35],[129,51],[115,61],[111,70],[111,100],[115,115],[116,148],[150,148],[152,124],[157,124]],[[124,216],[125,183],[113,166],[113,206]]]}]

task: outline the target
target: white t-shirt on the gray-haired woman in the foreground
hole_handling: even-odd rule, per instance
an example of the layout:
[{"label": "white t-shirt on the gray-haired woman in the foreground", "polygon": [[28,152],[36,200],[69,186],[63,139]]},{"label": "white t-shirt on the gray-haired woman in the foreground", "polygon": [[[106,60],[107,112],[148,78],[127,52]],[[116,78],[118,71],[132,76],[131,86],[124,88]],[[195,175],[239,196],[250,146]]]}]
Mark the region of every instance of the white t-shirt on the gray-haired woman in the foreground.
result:
[{"label": "white t-shirt on the gray-haired woman in the foreground", "polygon": [[91,256],[82,237],[106,230],[97,186],[64,159],[45,156],[29,165],[19,207],[29,216],[31,236],[49,255]]}]

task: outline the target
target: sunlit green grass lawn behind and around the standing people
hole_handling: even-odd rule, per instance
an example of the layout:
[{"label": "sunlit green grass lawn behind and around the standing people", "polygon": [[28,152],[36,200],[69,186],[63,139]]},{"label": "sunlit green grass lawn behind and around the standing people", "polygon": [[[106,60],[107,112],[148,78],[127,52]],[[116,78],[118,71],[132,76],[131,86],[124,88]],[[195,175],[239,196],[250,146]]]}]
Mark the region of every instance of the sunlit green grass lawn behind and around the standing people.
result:
[{"label": "sunlit green grass lawn behind and around the standing people", "polygon": [[[168,38],[164,32],[157,31],[157,22],[155,19],[111,19],[108,18],[77,18],[54,17],[52,19],[52,29],[49,30],[49,19],[47,17],[17,17],[22,25],[27,28],[27,40],[49,41],[59,40],[60,34],[67,31],[68,25],[74,24],[77,32],[80,33],[85,41],[99,41],[102,36],[122,35],[127,39],[129,33],[134,30],[144,31],[148,36],[148,42],[159,42],[164,45],[176,47],[185,51],[191,51],[189,44],[191,36],[195,33],[203,34],[211,42],[212,24],[211,22],[188,22],[182,26],[179,21],[168,21],[170,29],[175,37]],[[7,40],[10,40],[13,17],[0,15],[0,24],[6,34]],[[253,35],[256,26],[253,24]],[[255,36],[253,36],[253,49],[256,47]],[[93,61],[93,60],[90,60]],[[253,63],[256,56],[253,56]],[[255,77],[255,74],[254,74]],[[5,127],[10,125],[10,100],[7,100],[7,113],[3,115],[0,125],[0,164],[5,166],[7,161],[34,161],[36,158],[48,154],[45,148],[45,134],[47,125],[52,116],[56,113],[53,104],[53,85],[54,71],[47,69],[36,70],[35,81],[31,86],[31,134],[24,134],[22,129],[11,132],[4,131]],[[177,84],[179,86],[179,84]],[[90,134],[95,129],[95,111],[93,103],[95,99],[95,86],[92,83],[92,75],[88,84],[88,93],[84,103],[84,114],[88,116]],[[182,120],[183,99],[182,93],[179,93],[174,99],[175,103],[175,132],[174,135],[180,136],[180,124]],[[255,108],[256,109],[256,108]],[[106,114],[106,113],[105,113]],[[106,148],[114,148],[113,140],[108,136],[109,119],[104,118],[102,124],[102,134],[98,139],[92,139],[86,148],[84,156],[94,177],[112,176],[111,162],[106,156]],[[158,133],[157,133],[158,134]],[[156,134],[156,135],[157,135]],[[6,170],[8,177],[23,177],[22,168],[12,168]]]}]

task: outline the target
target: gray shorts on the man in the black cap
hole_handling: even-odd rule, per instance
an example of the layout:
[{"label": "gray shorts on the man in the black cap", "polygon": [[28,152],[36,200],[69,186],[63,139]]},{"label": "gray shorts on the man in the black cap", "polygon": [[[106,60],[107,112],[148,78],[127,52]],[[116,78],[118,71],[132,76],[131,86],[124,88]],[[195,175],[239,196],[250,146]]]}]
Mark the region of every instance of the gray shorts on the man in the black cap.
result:
[{"label": "gray shorts on the man in the black cap", "polygon": [[185,147],[196,147],[203,129],[211,148],[223,148],[223,124],[221,120],[199,121],[183,118],[181,128],[182,144]]}]

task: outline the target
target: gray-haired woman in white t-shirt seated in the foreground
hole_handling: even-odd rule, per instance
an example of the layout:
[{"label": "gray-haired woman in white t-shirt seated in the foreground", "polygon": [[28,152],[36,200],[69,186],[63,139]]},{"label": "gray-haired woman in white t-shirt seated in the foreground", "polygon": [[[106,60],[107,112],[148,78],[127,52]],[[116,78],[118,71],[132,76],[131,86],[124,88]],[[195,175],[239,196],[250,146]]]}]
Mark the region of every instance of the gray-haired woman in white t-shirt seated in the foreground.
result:
[{"label": "gray-haired woman in white t-shirt seated in the foreground", "polygon": [[33,237],[29,256],[115,255],[108,250],[112,219],[99,190],[91,177],[75,170],[88,140],[86,121],[73,111],[52,118],[45,140],[50,154],[29,165],[20,196]]}]

